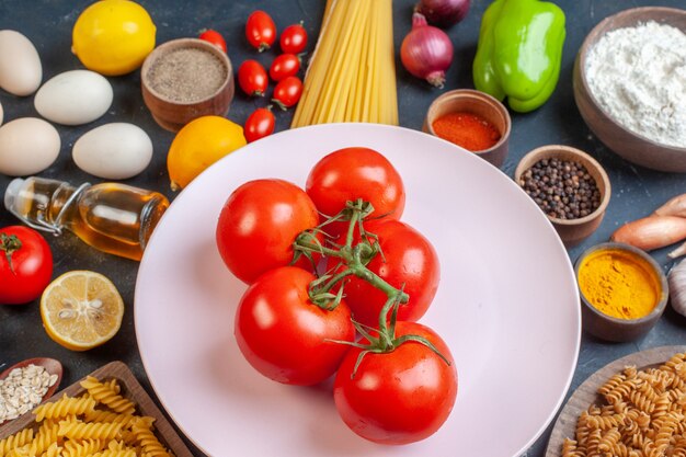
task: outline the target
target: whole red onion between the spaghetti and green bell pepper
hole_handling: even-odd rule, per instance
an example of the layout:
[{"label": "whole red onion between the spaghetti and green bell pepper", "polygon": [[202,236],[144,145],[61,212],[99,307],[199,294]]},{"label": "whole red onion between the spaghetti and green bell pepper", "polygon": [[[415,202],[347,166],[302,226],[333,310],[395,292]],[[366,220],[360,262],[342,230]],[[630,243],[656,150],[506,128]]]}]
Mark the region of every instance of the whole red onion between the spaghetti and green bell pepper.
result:
[{"label": "whole red onion between the spaghetti and green bell pepper", "polygon": [[453,61],[453,43],[441,28],[426,24],[426,19],[412,14],[412,30],[400,47],[402,66],[418,78],[443,88],[445,70]]}]

